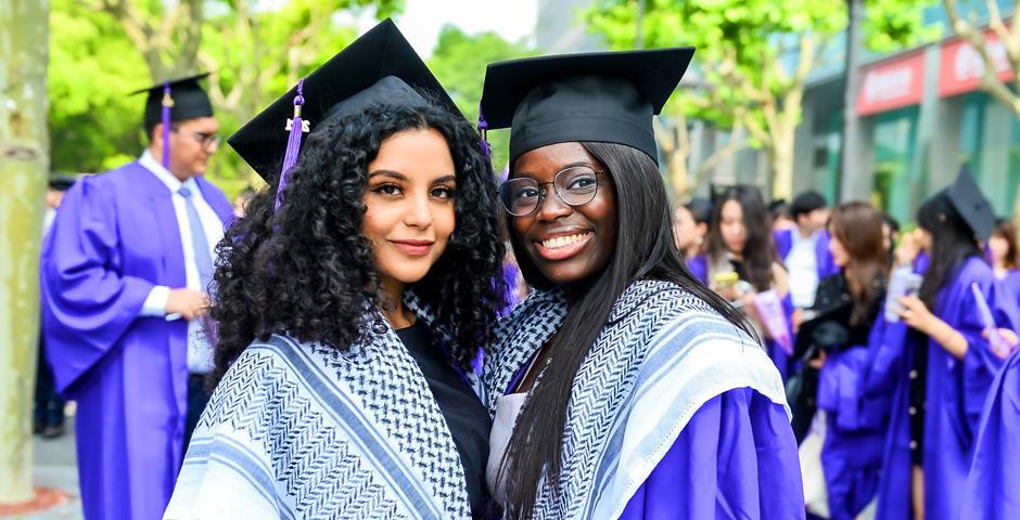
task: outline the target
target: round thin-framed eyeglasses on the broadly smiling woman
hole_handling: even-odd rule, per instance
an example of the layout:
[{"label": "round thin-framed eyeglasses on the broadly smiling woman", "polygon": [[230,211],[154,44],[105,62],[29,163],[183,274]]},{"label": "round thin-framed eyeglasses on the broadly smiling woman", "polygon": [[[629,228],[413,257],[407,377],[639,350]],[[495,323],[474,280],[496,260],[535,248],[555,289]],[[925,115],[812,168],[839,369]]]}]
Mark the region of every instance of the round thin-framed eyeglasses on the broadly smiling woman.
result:
[{"label": "round thin-framed eyeglasses on the broadly smiling woman", "polygon": [[582,206],[591,202],[599,190],[599,173],[587,166],[572,166],[557,172],[552,182],[538,182],[534,179],[510,179],[499,185],[499,199],[507,212],[514,217],[524,217],[538,209],[546,197],[546,184],[552,184],[556,196],[568,206]]}]

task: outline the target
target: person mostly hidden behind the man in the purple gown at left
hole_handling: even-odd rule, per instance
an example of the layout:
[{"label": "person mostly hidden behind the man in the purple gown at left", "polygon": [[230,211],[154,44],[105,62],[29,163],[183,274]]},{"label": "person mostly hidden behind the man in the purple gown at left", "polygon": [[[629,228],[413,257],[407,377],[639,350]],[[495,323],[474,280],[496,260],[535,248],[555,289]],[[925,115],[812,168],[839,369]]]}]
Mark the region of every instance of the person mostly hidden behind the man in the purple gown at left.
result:
[{"label": "person mostly hidden behind the man in the purple gown at left", "polygon": [[[42,220],[42,236],[50,233],[56,219],[56,209],[64,199],[64,192],[75,183],[74,176],[54,173],[46,190],[46,216]],[[39,334],[39,359],[36,362],[36,395],[33,405],[33,432],[43,439],[55,439],[64,434],[64,399],[53,384],[53,370],[46,358],[46,340]]]}]

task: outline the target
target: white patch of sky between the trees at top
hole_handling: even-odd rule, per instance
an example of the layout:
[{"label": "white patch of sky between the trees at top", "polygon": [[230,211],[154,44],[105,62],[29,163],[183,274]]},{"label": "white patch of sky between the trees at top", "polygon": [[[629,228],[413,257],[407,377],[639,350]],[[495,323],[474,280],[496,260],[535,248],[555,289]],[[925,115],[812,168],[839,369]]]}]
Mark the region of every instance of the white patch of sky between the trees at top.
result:
[{"label": "white patch of sky between the trees at top", "polygon": [[[404,12],[395,20],[411,47],[429,57],[446,24],[468,34],[493,30],[510,41],[531,39],[537,3],[537,0],[406,0]],[[375,20],[366,14],[356,23],[364,32]]]}]

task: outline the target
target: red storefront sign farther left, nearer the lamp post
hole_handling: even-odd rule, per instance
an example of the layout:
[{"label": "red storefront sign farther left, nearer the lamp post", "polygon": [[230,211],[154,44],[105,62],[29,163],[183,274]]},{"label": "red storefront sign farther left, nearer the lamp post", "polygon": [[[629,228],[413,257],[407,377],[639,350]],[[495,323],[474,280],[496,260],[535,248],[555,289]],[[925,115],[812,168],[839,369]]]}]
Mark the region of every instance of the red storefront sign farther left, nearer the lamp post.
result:
[{"label": "red storefront sign farther left, nearer the lamp post", "polygon": [[857,115],[917,105],[925,94],[925,53],[915,52],[864,69]]}]

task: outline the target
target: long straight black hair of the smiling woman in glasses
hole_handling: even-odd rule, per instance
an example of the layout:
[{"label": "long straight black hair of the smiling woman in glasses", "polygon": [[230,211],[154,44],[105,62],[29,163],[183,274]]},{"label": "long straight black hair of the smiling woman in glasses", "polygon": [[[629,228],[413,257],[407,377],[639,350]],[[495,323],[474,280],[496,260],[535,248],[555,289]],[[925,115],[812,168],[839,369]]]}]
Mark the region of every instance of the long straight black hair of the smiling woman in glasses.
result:
[{"label": "long straight black hair of the smiling woman in glasses", "polygon": [[[743,316],[698,282],[673,240],[673,211],[659,168],[650,157],[629,146],[581,143],[610,172],[616,187],[616,244],[607,265],[584,284],[584,294],[571,306],[549,346],[553,362],[518,418],[500,476],[507,489],[509,518],[528,519],[545,482],[559,498],[566,405],[574,376],[588,355],[624,289],[639,280],[673,282],[706,301],[741,329],[751,333]],[[531,262],[520,238],[510,230],[513,252],[524,280],[533,287],[553,284]]]}]

